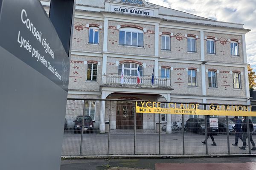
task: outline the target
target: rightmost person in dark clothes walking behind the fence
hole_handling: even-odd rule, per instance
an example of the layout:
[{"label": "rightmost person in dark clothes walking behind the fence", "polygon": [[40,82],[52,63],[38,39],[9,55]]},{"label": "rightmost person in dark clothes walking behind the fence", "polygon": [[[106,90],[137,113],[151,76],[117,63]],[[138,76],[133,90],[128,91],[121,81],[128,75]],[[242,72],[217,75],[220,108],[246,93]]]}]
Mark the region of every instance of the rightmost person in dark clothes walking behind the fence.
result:
[{"label": "rightmost person in dark clothes walking behind the fence", "polygon": [[250,138],[250,142],[252,143],[253,147],[251,148],[251,150],[256,150],[255,147],[255,143],[253,142],[253,138],[252,138],[252,132],[253,132],[253,123],[252,121],[249,119],[249,130],[250,130],[250,136],[248,136],[247,133],[247,121],[246,121],[246,116],[243,116],[244,120],[242,122],[242,130],[243,130],[243,146],[239,147],[240,149],[245,150],[246,147],[246,139],[247,137]]}]

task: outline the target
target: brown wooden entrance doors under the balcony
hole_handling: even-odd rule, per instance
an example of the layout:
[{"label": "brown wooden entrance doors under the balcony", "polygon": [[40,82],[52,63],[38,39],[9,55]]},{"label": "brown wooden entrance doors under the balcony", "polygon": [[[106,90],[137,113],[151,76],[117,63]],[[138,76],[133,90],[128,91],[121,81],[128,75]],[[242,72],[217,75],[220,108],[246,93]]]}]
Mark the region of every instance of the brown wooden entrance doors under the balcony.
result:
[{"label": "brown wooden entrance doors under the balcony", "polygon": [[136,128],[142,129],[143,113],[136,114],[135,102],[117,102],[116,129],[134,129],[135,115]]}]

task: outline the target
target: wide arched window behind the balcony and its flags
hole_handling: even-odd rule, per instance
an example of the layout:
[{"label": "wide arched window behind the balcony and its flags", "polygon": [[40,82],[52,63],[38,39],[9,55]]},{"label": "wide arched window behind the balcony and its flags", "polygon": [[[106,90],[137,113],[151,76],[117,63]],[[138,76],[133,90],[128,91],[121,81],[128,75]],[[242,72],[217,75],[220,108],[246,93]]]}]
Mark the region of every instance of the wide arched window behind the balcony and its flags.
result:
[{"label": "wide arched window behind the balcony and its flags", "polygon": [[125,76],[137,76],[138,67],[140,67],[140,76],[143,76],[143,67],[134,63],[124,63],[118,66],[118,75],[121,75],[122,68],[124,68]]}]

